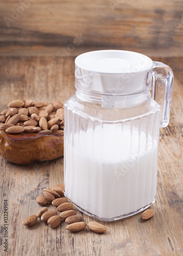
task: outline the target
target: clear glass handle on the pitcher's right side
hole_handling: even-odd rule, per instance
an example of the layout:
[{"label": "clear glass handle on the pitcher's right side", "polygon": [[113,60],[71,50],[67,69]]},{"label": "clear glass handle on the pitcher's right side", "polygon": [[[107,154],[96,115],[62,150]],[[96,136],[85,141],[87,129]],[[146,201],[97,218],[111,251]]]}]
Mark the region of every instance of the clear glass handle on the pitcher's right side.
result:
[{"label": "clear glass handle on the pitcher's right side", "polygon": [[162,62],[153,61],[153,93],[152,98],[161,105],[160,127],[166,127],[169,123],[170,105],[173,88],[173,71]]}]

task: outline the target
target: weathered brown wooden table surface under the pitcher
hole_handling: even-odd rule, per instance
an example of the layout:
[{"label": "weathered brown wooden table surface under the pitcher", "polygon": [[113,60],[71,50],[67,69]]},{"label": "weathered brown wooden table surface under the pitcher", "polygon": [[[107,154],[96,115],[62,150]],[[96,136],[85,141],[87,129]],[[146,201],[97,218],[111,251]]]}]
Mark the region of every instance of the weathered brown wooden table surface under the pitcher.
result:
[{"label": "weathered brown wooden table surface under the pitcher", "polygon": [[[88,229],[71,233],[64,222],[56,229],[41,221],[28,228],[22,221],[39,210],[37,195],[48,185],[63,182],[63,157],[27,166],[0,158],[1,255],[183,255],[183,58],[153,60],[167,63],[175,76],[170,123],[161,129],[156,202],[150,207],[154,217],[143,221],[140,213],[106,222],[104,234]],[[0,110],[14,99],[64,102],[75,92],[73,57],[1,57],[0,65]],[[6,199],[8,253],[3,248]],[[93,220],[83,214],[86,223]]]}]

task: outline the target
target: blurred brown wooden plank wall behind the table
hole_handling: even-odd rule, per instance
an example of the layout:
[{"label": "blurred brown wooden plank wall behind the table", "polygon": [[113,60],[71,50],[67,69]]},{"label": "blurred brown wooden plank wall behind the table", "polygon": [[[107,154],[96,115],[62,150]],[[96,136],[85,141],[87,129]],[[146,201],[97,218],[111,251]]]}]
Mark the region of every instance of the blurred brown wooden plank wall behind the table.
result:
[{"label": "blurred brown wooden plank wall behind the table", "polygon": [[2,0],[0,55],[123,49],[182,56],[182,10],[182,0]]}]

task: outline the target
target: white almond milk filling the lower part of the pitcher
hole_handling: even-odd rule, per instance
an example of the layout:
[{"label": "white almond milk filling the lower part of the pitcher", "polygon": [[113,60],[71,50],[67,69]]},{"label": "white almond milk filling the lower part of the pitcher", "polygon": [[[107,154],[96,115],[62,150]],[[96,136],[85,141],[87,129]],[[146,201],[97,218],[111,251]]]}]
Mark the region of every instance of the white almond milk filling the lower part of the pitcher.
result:
[{"label": "white almond milk filling the lower part of the pitcher", "polygon": [[79,208],[110,220],[155,201],[157,143],[144,132],[104,124],[73,140],[74,148],[67,145],[65,194]]}]

